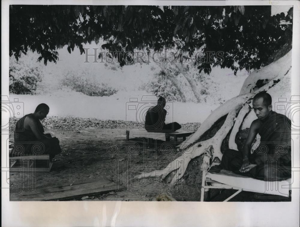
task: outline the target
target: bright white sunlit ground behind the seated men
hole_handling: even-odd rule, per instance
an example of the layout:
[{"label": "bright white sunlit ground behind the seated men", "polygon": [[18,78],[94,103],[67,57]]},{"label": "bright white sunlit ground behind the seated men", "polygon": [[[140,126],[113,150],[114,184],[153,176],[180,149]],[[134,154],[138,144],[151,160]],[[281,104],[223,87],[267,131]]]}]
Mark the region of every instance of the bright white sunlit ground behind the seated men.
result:
[{"label": "bright white sunlit ground behind the seated men", "polygon": [[[105,66],[104,63],[83,63],[85,56],[84,54],[80,55],[78,50],[74,50],[74,52],[69,54],[66,49],[61,49],[59,54],[59,61],[56,65],[48,63],[47,66],[44,66],[43,63],[40,63],[45,76],[43,82],[39,84],[38,95],[10,95],[10,100],[18,98],[19,102],[24,103],[24,114],[33,112],[39,103],[46,103],[50,106],[48,116],[73,115],[75,117],[98,118],[101,120],[131,121],[143,118],[145,109],[149,108],[149,104],[143,106],[139,102],[143,96],[151,96],[153,94],[140,90],[139,87],[153,78],[155,72],[158,72],[158,67],[155,63],[143,65],[137,63],[132,66],[124,66],[121,69],[116,64]],[[29,54],[22,59],[30,61],[32,57],[34,60],[37,59],[35,54]],[[89,57],[89,60],[93,61],[93,57]],[[117,70],[111,69],[112,67],[116,67]],[[89,78],[107,83],[109,86],[119,89],[119,91],[110,97],[89,97],[72,91],[67,87],[62,87],[60,80],[68,70],[72,70],[79,75],[82,72],[86,72],[86,76]],[[205,75],[205,81],[210,84],[207,102],[169,103],[167,106],[170,106],[170,108],[167,109],[166,122],[187,123],[204,121],[212,110],[220,106],[220,103],[239,94],[247,75],[246,71],[238,72],[237,76],[235,76],[230,69],[213,68],[210,75]],[[137,99],[132,103],[128,103],[130,98]],[[152,102],[146,103],[151,103],[150,105],[155,103],[155,97],[147,98],[152,100]],[[133,106],[137,106],[135,110]]]}]

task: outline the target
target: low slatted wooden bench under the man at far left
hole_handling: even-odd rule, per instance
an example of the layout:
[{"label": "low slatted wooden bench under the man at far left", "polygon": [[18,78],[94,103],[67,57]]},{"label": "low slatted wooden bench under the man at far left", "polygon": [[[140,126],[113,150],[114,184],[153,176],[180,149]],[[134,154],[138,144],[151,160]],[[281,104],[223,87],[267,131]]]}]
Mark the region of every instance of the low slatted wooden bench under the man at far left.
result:
[{"label": "low slatted wooden bench under the man at far left", "polygon": [[36,172],[50,172],[53,162],[50,160],[49,155],[24,155],[9,157],[10,171],[22,171],[23,168],[35,167]]}]

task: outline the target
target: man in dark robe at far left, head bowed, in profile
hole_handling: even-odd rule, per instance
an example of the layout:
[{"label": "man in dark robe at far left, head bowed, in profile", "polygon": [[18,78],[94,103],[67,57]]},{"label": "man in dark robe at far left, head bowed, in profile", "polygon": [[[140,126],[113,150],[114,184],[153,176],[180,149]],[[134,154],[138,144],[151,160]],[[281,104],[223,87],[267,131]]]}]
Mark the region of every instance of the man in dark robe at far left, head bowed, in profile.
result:
[{"label": "man in dark robe at far left, head bowed, in profile", "polygon": [[16,123],[15,143],[10,156],[49,155],[50,159],[61,152],[59,140],[44,134],[40,120],[46,118],[49,106],[41,103],[32,114],[27,114]]}]

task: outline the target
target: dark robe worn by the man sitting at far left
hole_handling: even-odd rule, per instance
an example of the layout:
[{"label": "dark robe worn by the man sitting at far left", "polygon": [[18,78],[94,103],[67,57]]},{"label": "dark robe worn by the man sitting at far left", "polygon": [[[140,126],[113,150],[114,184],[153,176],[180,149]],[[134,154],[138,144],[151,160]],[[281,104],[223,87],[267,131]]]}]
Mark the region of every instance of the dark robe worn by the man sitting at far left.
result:
[{"label": "dark robe worn by the man sitting at far left", "polygon": [[32,130],[28,130],[24,127],[24,120],[28,115],[20,118],[16,123],[16,130],[14,132],[15,143],[10,156],[50,155],[50,158],[54,158],[54,155],[61,153],[59,140],[56,137],[51,137],[49,133],[44,134],[44,127],[39,119],[35,120],[38,130],[48,138],[43,137],[38,140]]}]

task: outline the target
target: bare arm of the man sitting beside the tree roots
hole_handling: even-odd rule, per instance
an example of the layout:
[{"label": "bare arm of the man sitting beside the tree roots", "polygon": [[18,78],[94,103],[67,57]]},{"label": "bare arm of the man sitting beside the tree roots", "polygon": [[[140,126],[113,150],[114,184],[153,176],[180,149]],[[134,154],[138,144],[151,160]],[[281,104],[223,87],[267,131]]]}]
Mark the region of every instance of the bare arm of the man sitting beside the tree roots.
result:
[{"label": "bare arm of the man sitting beside the tree roots", "polygon": [[244,146],[243,146],[243,164],[242,164],[241,169],[240,169],[241,172],[244,172],[245,167],[250,165],[248,157],[249,157],[249,154],[250,154],[251,145],[252,145],[253,140],[255,139],[255,137],[258,133],[258,130],[259,130],[260,126],[261,126],[261,123],[258,119],[254,120],[252,122],[251,126],[250,126],[248,137],[247,137],[247,139],[244,143]]}]

